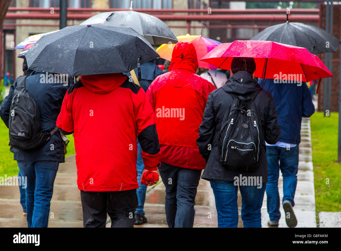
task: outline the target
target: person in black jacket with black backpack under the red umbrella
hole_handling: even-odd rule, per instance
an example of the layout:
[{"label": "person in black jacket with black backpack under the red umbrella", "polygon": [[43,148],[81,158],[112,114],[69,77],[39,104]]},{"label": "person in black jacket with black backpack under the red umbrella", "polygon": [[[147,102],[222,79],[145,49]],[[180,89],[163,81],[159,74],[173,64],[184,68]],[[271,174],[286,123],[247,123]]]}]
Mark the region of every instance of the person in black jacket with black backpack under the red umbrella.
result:
[{"label": "person in black jacket with black backpack under the red umbrella", "polygon": [[265,141],[280,138],[272,96],[253,79],[253,58],[235,57],[231,78],[208,96],[197,144],[207,164],[216,200],[218,227],[238,225],[238,186],[244,227],[261,227],[261,207],[267,182]]}]

